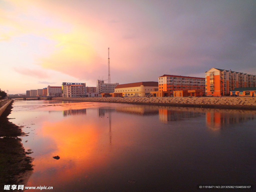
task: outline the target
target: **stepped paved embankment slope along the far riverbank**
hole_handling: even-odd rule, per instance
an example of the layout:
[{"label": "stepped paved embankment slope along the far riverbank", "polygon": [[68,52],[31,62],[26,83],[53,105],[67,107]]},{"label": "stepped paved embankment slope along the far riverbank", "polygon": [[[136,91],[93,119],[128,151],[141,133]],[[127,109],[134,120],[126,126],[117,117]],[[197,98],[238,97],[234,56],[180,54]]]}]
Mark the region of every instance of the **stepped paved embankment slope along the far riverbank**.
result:
[{"label": "stepped paved embankment slope along the far riverbank", "polygon": [[166,106],[186,106],[202,108],[224,108],[224,109],[250,109],[256,110],[256,98],[176,98],[176,97],[108,97],[108,98],[53,98],[62,101],[88,101],[88,102],[113,102],[113,103],[134,103],[149,105],[166,105]]}]

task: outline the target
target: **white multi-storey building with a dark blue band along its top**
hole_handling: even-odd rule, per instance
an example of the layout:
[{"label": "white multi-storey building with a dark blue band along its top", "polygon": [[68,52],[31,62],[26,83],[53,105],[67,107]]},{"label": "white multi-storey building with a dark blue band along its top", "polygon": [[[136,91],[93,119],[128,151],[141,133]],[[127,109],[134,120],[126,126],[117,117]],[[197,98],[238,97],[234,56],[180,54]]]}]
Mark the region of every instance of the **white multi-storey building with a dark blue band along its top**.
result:
[{"label": "white multi-storey building with a dark blue band along its top", "polygon": [[62,97],[86,97],[86,83],[62,83]]}]

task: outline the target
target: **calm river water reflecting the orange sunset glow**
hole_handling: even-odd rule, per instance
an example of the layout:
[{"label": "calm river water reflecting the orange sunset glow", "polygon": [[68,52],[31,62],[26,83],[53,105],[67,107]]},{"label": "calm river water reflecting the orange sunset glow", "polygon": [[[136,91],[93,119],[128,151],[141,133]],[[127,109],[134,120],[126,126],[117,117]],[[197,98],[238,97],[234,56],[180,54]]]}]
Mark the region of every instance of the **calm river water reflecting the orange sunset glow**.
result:
[{"label": "calm river water reflecting the orange sunset glow", "polygon": [[24,125],[23,146],[34,152],[28,186],[100,192],[255,185],[256,111],[15,101],[8,117]]}]

